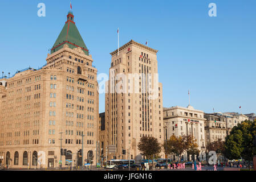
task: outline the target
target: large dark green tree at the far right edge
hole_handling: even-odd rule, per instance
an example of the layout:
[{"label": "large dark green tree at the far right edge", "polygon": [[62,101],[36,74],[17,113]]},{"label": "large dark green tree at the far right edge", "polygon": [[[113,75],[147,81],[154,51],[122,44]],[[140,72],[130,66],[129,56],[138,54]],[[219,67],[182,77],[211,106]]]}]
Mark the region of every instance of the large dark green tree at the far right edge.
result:
[{"label": "large dark green tree at the far right edge", "polygon": [[256,155],[254,136],[256,135],[256,121],[243,121],[233,127],[226,137],[224,154],[227,159],[243,158],[249,163]]}]

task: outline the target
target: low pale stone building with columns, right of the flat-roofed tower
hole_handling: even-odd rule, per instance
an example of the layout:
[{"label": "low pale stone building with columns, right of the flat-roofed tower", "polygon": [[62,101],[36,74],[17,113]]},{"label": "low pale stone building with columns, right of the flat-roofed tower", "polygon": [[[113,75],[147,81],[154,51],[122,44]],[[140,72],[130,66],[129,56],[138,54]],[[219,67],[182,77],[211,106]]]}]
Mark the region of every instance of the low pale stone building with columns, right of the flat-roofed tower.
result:
[{"label": "low pale stone building with columns, right of the flat-roofed tower", "polygon": [[[164,139],[170,139],[172,135],[176,137],[192,135],[200,150],[198,158],[205,160],[205,120],[204,111],[196,110],[190,105],[188,107],[164,107]],[[172,155],[171,159],[177,160],[178,158]],[[192,156],[185,153],[183,159],[191,160]]]}]

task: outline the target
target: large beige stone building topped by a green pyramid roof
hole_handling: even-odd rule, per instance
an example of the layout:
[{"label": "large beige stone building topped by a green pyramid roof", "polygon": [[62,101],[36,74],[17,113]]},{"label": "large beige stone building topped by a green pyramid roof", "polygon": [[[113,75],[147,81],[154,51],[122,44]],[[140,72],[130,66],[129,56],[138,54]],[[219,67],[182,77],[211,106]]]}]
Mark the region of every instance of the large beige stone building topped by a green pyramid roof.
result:
[{"label": "large beige stone building topped by a green pyramid roof", "polygon": [[[0,79],[1,165],[62,167],[92,163],[99,117],[97,69],[70,11],[42,68]],[[62,140],[60,140],[62,139]],[[72,154],[72,155],[71,155]],[[95,161],[95,160],[94,160]]]}]

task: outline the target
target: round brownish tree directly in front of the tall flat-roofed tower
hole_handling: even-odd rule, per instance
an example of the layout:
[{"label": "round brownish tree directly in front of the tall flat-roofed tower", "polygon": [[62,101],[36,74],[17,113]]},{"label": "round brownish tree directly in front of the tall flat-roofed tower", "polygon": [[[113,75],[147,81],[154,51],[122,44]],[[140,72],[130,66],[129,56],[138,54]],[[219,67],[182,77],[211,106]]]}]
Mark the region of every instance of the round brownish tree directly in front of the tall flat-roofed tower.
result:
[{"label": "round brownish tree directly in front of the tall flat-roofed tower", "polygon": [[161,152],[161,145],[155,137],[141,137],[138,143],[138,148],[141,151],[141,155],[152,159],[153,155],[157,155]]}]

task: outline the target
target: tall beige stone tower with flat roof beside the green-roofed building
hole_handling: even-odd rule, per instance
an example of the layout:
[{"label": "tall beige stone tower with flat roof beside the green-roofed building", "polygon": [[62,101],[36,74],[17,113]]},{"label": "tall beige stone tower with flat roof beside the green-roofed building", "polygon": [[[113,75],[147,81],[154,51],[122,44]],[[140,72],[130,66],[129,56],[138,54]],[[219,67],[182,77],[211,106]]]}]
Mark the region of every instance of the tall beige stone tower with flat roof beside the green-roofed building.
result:
[{"label": "tall beige stone tower with flat roof beside the green-roofed building", "polygon": [[[116,152],[108,152],[107,157],[138,161],[142,158],[137,148],[141,137],[164,140],[157,50],[131,40],[111,56],[105,87],[105,146],[115,145]],[[164,157],[163,152],[161,155]]]}]

